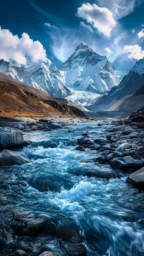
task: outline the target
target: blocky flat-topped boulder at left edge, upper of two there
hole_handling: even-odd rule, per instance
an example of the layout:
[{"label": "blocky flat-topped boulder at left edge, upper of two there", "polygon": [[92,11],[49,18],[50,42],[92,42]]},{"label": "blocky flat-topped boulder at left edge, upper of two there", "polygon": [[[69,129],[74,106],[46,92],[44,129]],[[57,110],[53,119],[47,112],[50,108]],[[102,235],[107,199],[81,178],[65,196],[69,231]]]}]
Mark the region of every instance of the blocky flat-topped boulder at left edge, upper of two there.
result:
[{"label": "blocky flat-topped boulder at left edge, upper of two there", "polygon": [[0,128],[0,148],[23,146],[23,133],[16,128]]}]

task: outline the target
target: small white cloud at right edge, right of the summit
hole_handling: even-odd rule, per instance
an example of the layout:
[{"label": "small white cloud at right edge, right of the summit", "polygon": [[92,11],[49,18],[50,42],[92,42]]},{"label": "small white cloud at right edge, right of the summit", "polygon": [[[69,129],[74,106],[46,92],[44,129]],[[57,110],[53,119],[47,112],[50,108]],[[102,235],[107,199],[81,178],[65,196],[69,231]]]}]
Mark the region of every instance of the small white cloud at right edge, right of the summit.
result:
[{"label": "small white cloud at right edge, right of the summit", "polygon": [[139,45],[125,45],[124,51],[128,53],[128,58],[142,59],[144,57],[144,51]]}]

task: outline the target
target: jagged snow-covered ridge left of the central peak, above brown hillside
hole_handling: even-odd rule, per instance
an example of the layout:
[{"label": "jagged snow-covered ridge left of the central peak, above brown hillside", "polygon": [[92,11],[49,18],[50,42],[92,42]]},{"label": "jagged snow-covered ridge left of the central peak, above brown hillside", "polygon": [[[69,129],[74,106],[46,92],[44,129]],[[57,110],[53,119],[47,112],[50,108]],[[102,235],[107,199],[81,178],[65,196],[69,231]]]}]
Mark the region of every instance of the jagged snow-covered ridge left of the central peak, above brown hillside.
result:
[{"label": "jagged snow-covered ridge left of the central peak, above brown hillside", "polygon": [[34,63],[27,58],[27,65],[1,59],[0,72],[31,87],[43,90],[54,98],[70,95],[70,91],[65,86],[65,76],[49,59]]}]

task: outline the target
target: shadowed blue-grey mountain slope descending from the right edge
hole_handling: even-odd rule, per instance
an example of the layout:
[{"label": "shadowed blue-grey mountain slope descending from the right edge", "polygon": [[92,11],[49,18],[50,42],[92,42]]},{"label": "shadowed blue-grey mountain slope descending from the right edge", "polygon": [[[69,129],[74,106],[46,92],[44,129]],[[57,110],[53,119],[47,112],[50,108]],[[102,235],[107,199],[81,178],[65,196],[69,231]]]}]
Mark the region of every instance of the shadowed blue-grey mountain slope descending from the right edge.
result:
[{"label": "shadowed blue-grey mountain slope descending from the right edge", "polygon": [[118,87],[113,87],[107,95],[98,98],[89,106],[91,111],[135,111],[144,106],[144,58],[124,76]]}]

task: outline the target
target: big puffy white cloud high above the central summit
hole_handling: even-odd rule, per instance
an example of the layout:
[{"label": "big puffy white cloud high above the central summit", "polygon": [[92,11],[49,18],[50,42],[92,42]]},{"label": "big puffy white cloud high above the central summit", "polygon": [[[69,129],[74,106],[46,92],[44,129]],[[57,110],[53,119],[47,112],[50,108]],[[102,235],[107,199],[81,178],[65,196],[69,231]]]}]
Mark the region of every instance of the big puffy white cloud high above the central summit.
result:
[{"label": "big puffy white cloud high above the central summit", "polygon": [[77,16],[92,24],[95,29],[98,29],[99,32],[107,37],[110,36],[113,27],[116,25],[110,10],[88,2],[77,8]]}]

